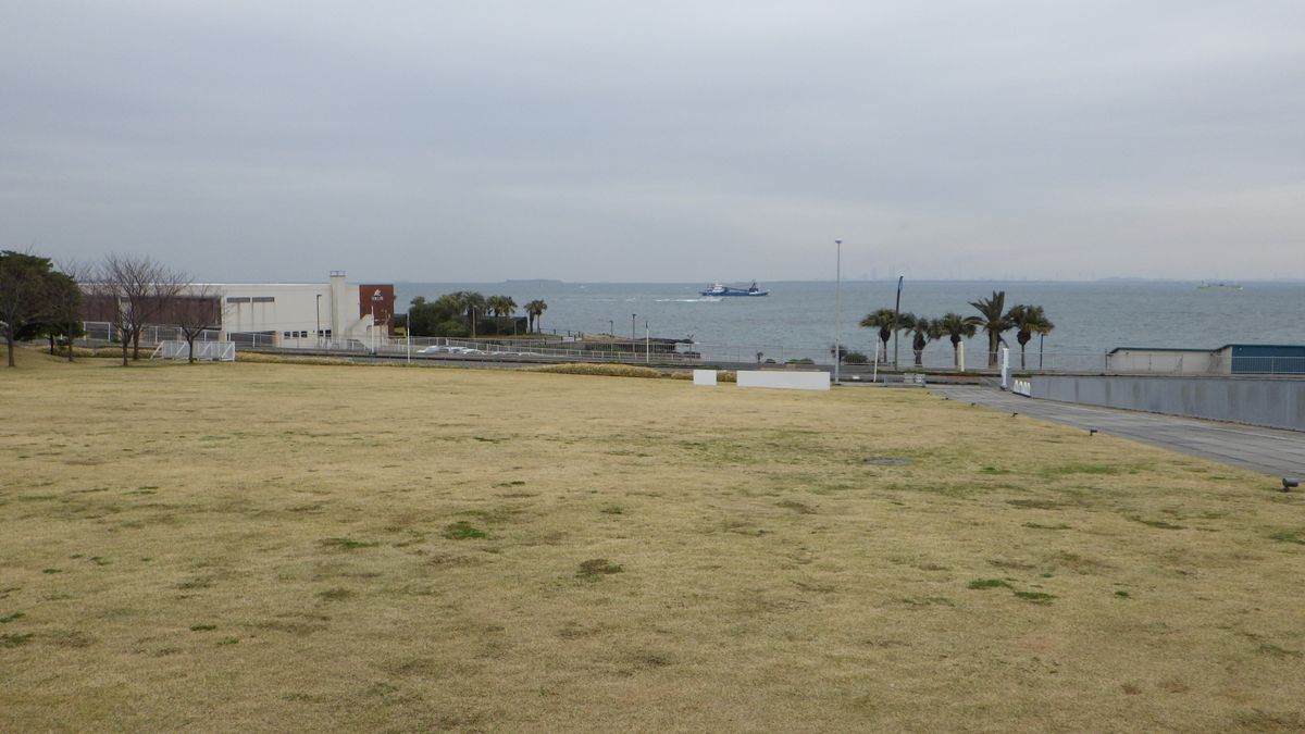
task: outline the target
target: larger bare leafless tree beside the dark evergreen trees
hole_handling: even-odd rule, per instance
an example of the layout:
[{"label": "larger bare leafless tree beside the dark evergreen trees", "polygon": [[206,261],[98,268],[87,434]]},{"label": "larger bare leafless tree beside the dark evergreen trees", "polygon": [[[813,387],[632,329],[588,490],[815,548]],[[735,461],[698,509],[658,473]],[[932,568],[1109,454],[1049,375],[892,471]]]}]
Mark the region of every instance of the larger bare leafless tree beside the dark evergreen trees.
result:
[{"label": "larger bare leafless tree beside the dark evergreen trees", "polygon": [[123,367],[127,347],[132,359],[141,358],[141,330],[157,323],[191,278],[150,257],[107,255],[95,278],[95,294],[106,300],[110,323],[123,334]]}]

